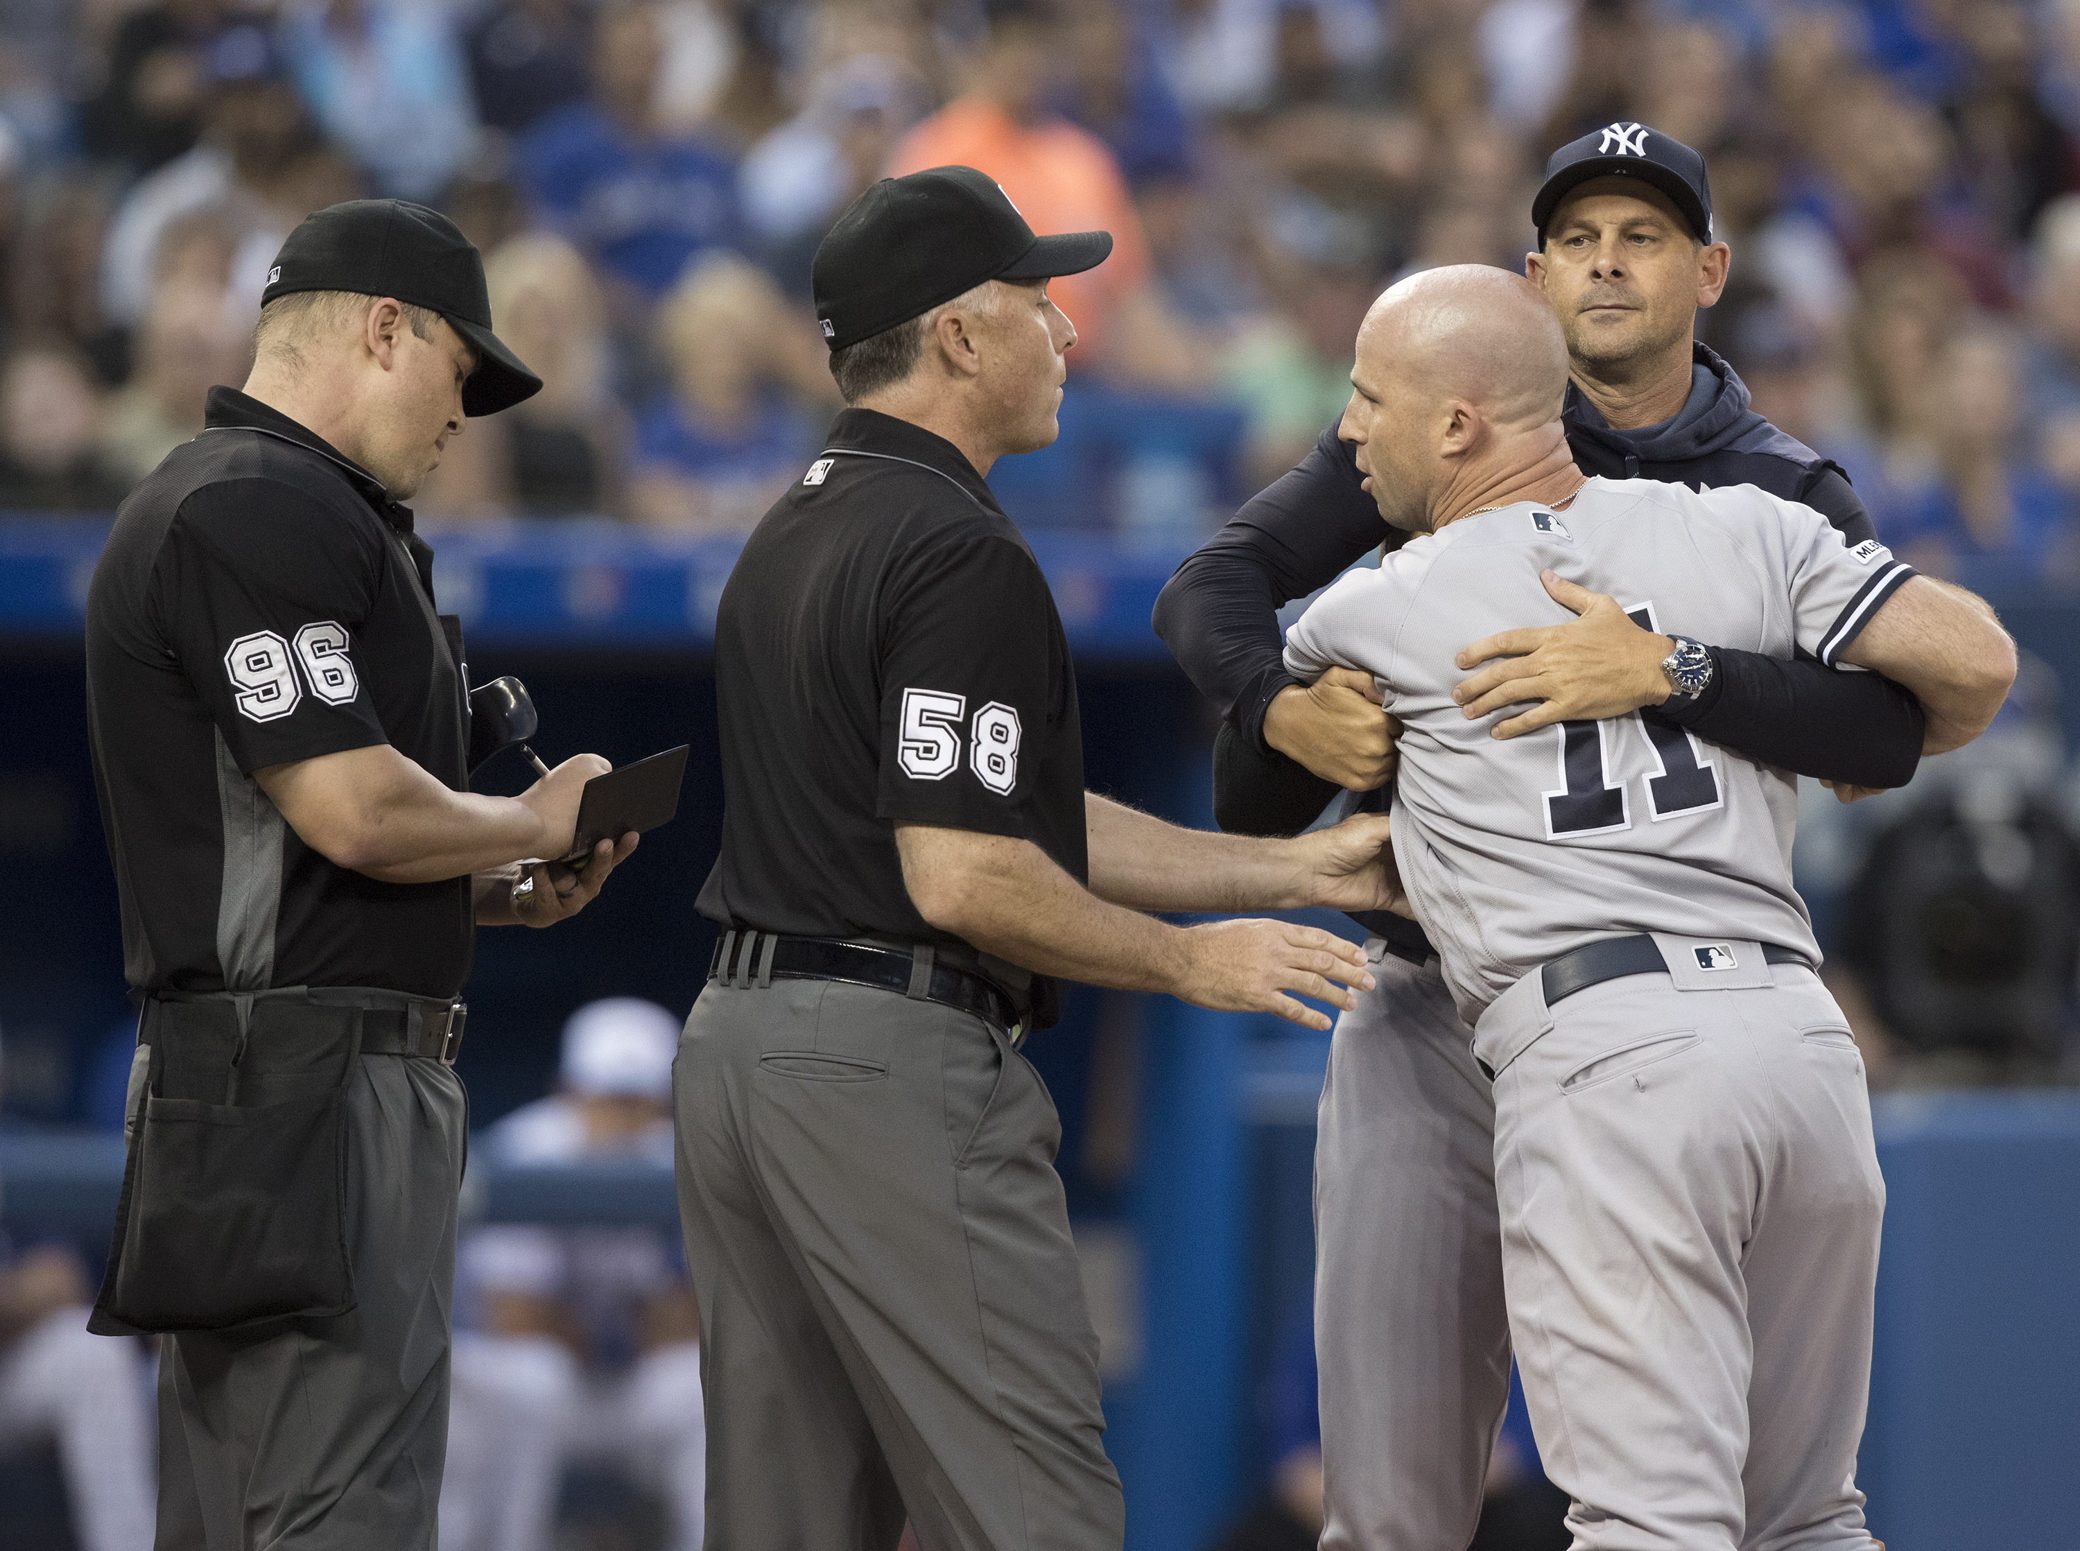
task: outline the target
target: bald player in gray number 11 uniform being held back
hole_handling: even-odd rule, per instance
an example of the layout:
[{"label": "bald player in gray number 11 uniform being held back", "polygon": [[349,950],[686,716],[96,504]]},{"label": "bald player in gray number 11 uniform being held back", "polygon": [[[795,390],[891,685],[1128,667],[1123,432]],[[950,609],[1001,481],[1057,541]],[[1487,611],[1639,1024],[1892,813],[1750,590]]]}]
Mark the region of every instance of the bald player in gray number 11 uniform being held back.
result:
[{"label": "bald player in gray number 11 uniform being held back", "polygon": [[[1853,1470],[1884,1185],[1791,886],[1795,778],[1654,709],[1500,738],[1502,711],[1456,699],[1456,649],[1562,622],[1589,588],[1647,630],[1887,674],[1930,736],[1966,742],[2013,647],[1812,507],[1585,478],[1560,326],[1502,270],[1387,291],[1352,387],[1340,435],[1381,518],[1419,536],[1331,586],[1285,663],[1373,676],[1406,726],[1396,857],[1441,956],[1425,973],[1493,1083],[1510,1335],[1575,1545],[1868,1551]],[[1325,1455],[1362,1470],[1342,1426],[1325,1416]]]}]

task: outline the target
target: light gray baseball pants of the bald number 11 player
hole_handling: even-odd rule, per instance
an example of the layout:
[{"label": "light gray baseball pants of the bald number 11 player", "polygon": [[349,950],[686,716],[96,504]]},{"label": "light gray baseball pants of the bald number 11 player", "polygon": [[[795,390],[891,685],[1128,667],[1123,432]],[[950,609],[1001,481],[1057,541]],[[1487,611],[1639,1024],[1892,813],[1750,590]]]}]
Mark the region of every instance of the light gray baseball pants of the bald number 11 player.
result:
[{"label": "light gray baseball pants of the bald number 11 player", "polygon": [[1481,1017],[1516,1362],[1577,1551],[1868,1551],[1884,1181],[1820,979],[1735,942]]}]

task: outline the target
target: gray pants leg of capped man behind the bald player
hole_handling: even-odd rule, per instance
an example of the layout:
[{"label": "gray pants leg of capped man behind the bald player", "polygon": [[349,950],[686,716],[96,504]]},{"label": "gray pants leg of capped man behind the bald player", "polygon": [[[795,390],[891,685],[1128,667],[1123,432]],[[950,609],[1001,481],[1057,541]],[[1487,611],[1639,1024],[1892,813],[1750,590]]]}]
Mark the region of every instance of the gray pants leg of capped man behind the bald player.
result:
[{"label": "gray pants leg of capped man behind the bald player", "polygon": [[1367,944],[1315,1141],[1323,1551],[1466,1551],[1510,1391],[1493,1085],[1437,961]]}]

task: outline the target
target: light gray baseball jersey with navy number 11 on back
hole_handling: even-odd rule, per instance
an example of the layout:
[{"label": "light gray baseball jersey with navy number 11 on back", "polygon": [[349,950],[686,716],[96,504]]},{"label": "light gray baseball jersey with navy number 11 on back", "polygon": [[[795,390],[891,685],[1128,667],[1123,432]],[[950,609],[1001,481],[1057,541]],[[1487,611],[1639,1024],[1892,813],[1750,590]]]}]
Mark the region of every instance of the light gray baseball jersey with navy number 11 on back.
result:
[{"label": "light gray baseball jersey with navy number 11 on back", "polygon": [[1539,584],[1545,568],[1649,630],[1828,665],[1914,576],[1751,484],[1591,478],[1564,511],[1460,518],[1323,593],[1288,632],[1285,665],[1369,672],[1406,724],[1394,850],[1460,1017],[1629,931],[1776,944],[1818,965],[1791,888],[1791,773],[1637,711],[1500,740],[1514,711],[1468,721],[1452,703],[1460,647],[1575,617]]}]

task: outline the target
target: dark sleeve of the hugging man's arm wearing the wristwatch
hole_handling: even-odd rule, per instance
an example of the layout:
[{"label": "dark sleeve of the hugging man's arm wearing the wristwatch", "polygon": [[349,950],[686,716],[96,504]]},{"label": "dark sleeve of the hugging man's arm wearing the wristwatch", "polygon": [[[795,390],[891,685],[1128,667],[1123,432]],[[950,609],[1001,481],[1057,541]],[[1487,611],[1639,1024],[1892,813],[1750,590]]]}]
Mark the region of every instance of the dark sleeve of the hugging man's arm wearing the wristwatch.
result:
[{"label": "dark sleeve of the hugging man's arm wearing the wristwatch", "polygon": [[[1860,545],[1874,536],[1849,480],[1824,464],[1799,499]],[[1670,699],[1668,721],[1764,765],[1853,786],[1905,786],[1928,719],[1914,692],[1880,674],[1837,672],[1812,657],[1783,661],[1714,647],[1712,688]]]}]

